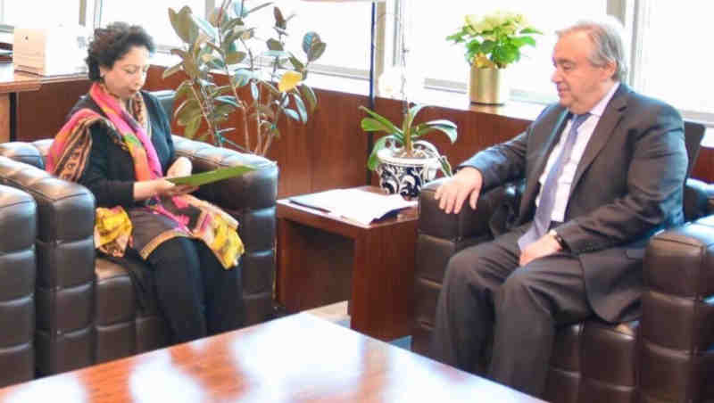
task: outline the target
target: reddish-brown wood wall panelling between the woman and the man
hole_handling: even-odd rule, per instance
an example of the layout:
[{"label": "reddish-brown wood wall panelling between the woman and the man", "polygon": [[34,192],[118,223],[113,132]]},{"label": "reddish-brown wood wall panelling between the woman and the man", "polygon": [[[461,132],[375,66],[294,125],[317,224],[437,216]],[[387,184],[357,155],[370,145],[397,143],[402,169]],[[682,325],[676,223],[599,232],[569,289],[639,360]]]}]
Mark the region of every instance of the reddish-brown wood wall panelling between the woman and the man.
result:
[{"label": "reddish-brown wood wall panelling between the woman and the man", "polygon": [[[180,80],[177,76],[163,80],[162,69],[156,67],[149,70],[145,88],[175,88]],[[365,114],[358,110],[360,105],[368,104],[367,97],[319,88],[315,93],[318,108],[307,125],[287,119],[278,123],[281,136],[268,154],[280,167],[278,197],[367,183],[368,139],[360,128]],[[376,109],[386,118],[401,122],[400,102],[378,98]],[[231,123],[241,127],[240,119]],[[511,138],[529,123],[487,112],[436,107],[422,111],[419,120],[422,119],[450,119],[458,125],[459,139],[455,144],[445,136],[429,137],[454,165],[477,150]],[[174,130],[183,133],[180,127],[174,126]],[[243,144],[241,138],[232,139]],[[376,177],[372,176],[371,181],[376,184]]]}]

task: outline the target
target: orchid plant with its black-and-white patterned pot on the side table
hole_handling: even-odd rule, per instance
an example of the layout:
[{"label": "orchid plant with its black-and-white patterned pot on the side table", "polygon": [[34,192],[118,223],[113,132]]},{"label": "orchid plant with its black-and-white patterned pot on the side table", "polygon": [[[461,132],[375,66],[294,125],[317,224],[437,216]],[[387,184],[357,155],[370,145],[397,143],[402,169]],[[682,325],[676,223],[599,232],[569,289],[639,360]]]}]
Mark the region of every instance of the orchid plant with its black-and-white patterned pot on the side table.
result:
[{"label": "orchid plant with its black-and-white patterned pot on the side table", "polygon": [[413,198],[419,195],[421,186],[436,177],[441,170],[444,176],[452,176],[449,161],[441,155],[434,144],[423,137],[436,132],[456,141],[457,127],[445,119],[415,123],[415,119],[426,105],[412,104],[405,107],[402,124],[394,125],[389,119],[360,106],[369,114],[361,119],[361,128],[365,132],[384,132],[372,147],[367,160],[367,167],[377,172],[379,186],[389,193],[400,193]]}]

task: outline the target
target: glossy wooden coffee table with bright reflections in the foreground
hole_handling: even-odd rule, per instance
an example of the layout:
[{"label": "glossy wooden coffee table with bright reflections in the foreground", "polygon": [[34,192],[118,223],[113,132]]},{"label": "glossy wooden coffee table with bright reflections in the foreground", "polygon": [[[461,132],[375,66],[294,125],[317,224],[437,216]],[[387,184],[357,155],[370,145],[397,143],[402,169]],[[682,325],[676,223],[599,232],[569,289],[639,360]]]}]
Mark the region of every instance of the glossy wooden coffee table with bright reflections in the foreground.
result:
[{"label": "glossy wooden coffee table with bright reflections in the foreground", "polygon": [[0,390],[35,401],[542,400],[303,313]]}]

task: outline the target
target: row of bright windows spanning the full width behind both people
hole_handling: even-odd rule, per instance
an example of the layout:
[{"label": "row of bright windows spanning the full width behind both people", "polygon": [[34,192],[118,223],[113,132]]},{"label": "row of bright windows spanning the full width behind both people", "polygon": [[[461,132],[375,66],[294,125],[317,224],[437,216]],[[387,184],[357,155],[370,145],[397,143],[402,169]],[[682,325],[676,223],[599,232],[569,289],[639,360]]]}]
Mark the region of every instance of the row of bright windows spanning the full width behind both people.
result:
[{"label": "row of bright windows spanning the full width behind both people", "polygon": [[[221,0],[222,1],[222,0]],[[0,30],[13,26],[72,25],[106,26],[112,21],[142,25],[160,49],[179,45],[170,26],[168,8],[188,5],[199,15],[220,5],[219,0],[0,0]],[[269,0],[252,0],[251,6]],[[550,82],[554,30],[577,18],[611,13],[626,21],[631,75],[635,90],[672,103],[685,117],[708,121],[714,127],[714,97],[709,68],[714,53],[707,47],[709,16],[714,4],[697,0],[661,2],[656,0],[502,0],[494,4],[473,0],[446,0],[448,6],[418,0],[386,0],[378,4],[376,43],[379,74],[384,66],[398,60],[395,33],[403,32],[409,50],[407,72],[411,81],[429,87],[466,91],[469,66],[463,45],[445,40],[463,22],[466,14],[483,14],[495,9],[522,12],[545,35],[535,36],[537,47],[526,46],[524,58],[511,66],[511,96],[535,102],[551,102],[555,91]],[[369,70],[369,27],[371,3],[273,0],[288,16],[288,49],[296,50],[305,32],[320,33],[327,51],[313,64],[313,70],[336,76],[367,78]],[[445,3],[444,3],[445,4]],[[655,6],[656,4],[656,6]],[[37,12],[42,10],[42,12]],[[402,12],[403,10],[403,12]],[[554,12],[557,10],[558,12]],[[399,17],[403,15],[403,17]],[[256,13],[253,21],[272,23],[272,7]],[[266,26],[266,24],[260,24]],[[271,37],[269,29],[259,33]],[[162,46],[163,45],[163,46]],[[299,51],[298,51],[299,52]],[[418,94],[415,94],[418,96]]]}]

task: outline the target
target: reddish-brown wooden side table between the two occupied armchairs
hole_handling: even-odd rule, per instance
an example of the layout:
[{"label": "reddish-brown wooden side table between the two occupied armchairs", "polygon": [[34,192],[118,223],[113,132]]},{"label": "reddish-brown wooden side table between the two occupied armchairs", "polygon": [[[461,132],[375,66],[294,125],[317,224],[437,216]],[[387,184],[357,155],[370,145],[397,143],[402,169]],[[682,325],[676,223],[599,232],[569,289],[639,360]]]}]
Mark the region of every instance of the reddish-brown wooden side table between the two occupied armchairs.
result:
[{"label": "reddish-brown wooden side table between the two occupied armchairs", "polygon": [[288,312],[350,300],[354,330],[382,340],[410,334],[416,208],[362,226],[283,199],[277,216],[276,291]]}]

